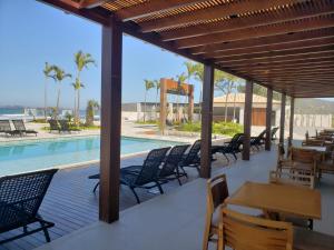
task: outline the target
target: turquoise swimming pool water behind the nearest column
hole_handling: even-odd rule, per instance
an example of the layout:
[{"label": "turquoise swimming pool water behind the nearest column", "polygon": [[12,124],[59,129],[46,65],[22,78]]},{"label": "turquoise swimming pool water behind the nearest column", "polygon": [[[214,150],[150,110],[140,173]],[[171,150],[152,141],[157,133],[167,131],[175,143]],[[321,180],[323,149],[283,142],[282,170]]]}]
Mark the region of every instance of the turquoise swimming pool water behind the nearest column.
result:
[{"label": "turquoise swimming pool water behind the nearest column", "polygon": [[[179,142],[121,138],[121,154],[147,151]],[[80,137],[0,144],[0,176],[71,166],[99,159],[100,137]]]}]

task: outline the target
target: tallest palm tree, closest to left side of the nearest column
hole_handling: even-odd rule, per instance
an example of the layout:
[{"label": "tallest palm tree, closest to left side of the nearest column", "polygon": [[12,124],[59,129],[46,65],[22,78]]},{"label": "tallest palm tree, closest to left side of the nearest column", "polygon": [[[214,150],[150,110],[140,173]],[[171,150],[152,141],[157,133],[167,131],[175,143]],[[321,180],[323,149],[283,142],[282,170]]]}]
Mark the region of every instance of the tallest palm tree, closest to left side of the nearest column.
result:
[{"label": "tallest palm tree, closest to left side of the nearest column", "polygon": [[[78,82],[81,82],[80,81],[80,73],[84,70],[84,68],[88,69],[89,64],[96,64],[96,62],[92,59],[91,54],[90,53],[85,53],[81,50],[79,50],[77,53],[75,53],[75,62],[76,62],[76,66],[77,66],[77,78],[76,79],[78,79]],[[76,108],[77,109],[75,111],[76,122],[78,122],[79,119],[80,119],[80,89],[81,89],[81,86],[78,84],[77,87],[78,87],[76,89],[76,92],[77,92],[77,94],[76,94],[77,96]]]}]

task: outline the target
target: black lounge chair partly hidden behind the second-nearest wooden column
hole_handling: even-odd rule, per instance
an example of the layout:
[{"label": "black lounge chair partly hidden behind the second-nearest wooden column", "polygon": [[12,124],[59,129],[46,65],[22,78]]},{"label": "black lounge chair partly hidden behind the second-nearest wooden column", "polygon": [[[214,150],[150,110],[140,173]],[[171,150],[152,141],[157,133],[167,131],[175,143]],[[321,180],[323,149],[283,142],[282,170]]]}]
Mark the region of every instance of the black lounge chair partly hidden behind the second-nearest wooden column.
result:
[{"label": "black lounge chair partly hidden behind the second-nearest wooden column", "polygon": [[199,166],[200,166],[199,151],[200,151],[200,140],[197,140],[194,142],[188,153],[184,154],[183,160],[179,163],[179,167],[180,170],[183,171],[181,174],[184,174],[185,177],[188,177],[187,172],[185,171],[185,167],[196,168],[199,173]]}]

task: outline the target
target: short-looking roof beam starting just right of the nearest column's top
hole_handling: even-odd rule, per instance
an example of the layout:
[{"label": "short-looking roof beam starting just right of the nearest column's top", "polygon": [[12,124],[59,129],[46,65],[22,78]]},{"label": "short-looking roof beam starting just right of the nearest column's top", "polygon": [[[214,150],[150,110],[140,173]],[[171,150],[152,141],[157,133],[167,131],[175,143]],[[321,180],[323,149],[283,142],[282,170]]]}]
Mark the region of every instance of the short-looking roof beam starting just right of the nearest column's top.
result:
[{"label": "short-looking roof beam starting just right of the nearest column's top", "polygon": [[116,16],[122,21],[129,21],[202,1],[203,0],[150,0],[141,4],[122,8],[116,11]]}]

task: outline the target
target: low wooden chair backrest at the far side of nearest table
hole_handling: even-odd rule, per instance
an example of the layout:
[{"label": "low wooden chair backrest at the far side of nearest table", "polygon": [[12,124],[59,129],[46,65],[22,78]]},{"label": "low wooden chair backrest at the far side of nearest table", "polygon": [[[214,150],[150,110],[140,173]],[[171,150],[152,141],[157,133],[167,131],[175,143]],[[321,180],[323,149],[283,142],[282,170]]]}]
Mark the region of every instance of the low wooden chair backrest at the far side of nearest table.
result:
[{"label": "low wooden chair backrest at the far side of nearest table", "polygon": [[314,189],[314,176],[293,172],[271,171],[269,182]]}]

